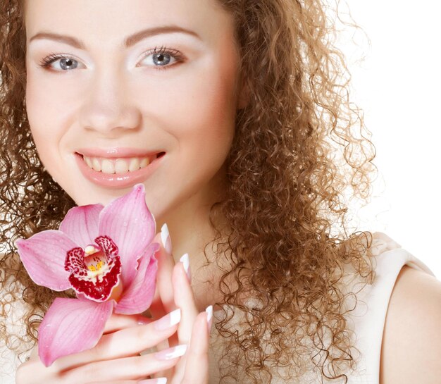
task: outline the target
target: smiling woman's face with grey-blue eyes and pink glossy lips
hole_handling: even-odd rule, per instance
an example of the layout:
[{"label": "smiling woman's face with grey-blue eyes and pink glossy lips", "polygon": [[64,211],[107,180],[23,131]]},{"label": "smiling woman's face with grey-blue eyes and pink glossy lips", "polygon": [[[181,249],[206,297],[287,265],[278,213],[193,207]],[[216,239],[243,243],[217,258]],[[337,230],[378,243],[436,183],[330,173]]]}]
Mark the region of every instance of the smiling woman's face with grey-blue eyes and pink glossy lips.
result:
[{"label": "smiling woman's face with grey-blue eyes and pink glossy lips", "polygon": [[78,205],[142,182],[159,218],[221,192],[240,58],[215,0],[32,0],[25,23],[32,136]]}]

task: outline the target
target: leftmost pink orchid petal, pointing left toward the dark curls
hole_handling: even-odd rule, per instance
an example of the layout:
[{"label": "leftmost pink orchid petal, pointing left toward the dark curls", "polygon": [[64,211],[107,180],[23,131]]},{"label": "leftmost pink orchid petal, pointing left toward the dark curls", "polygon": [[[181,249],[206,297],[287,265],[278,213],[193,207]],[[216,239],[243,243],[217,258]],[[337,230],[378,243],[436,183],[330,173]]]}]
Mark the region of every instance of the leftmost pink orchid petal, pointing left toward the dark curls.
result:
[{"label": "leftmost pink orchid petal, pointing left toward the dark curls", "polygon": [[15,242],[18,254],[34,283],[54,291],[70,287],[69,273],[64,269],[66,254],[77,244],[59,230],[44,230],[29,239]]}]

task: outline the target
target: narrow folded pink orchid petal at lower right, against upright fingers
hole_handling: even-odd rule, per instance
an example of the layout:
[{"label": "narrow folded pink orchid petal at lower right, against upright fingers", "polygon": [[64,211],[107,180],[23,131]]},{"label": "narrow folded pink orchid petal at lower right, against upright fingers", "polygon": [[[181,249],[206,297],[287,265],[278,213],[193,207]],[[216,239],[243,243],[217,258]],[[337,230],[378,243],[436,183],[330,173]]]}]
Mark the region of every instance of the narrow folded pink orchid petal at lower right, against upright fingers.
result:
[{"label": "narrow folded pink orchid petal at lower right, against upright fingers", "polygon": [[139,259],[138,271],[132,284],[124,290],[115,307],[116,314],[140,314],[149,308],[155,293],[158,261],[154,254],[159,244],[153,242]]}]

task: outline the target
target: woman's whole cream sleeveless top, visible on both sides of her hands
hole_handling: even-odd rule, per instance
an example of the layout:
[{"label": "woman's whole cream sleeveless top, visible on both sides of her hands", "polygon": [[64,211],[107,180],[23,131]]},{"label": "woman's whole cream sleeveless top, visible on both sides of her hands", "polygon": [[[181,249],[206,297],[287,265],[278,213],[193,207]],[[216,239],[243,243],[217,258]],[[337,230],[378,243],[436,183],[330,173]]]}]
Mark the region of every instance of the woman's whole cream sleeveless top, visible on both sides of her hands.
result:
[{"label": "woman's whole cream sleeveless top, visible on both sides of her hands", "polygon": [[[392,240],[385,233],[374,233],[373,244],[368,252],[375,256],[375,280],[372,285],[366,285],[364,289],[357,294],[357,305],[354,311],[347,315],[348,326],[354,330],[356,335],[355,346],[360,351],[358,359],[356,359],[356,369],[347,373],[348,384],[378,384],[380,373],[380,350],[383,338],[383,328],[385,325],[385,317],[387,306],[389,304],[390,295],[395,285],[395,280],[399,271],[404,265],[420,271],[434,275],[432,271],[423,264],[422,261],[407,252],[405,249]],[[375,265],[374,264],[374,265]],[[351,271],[347,272],[347,279],[344,285],[348,290],[356,290],[357,282],[352,278]],[[342,289],[343,290],[343,289]],[[20,326],[21,314],[23,308],[15,307],[11,311],[8,318],[8,330],[11,333],[23,332]],[[216,311],[213,316],[214,320],[219,319],[222,311]],[[209,384],[219,383],[218,360],[221,356],[221,337],[217,335],[217,330],[213,326],[211,330],[211,348],[209,352],[210,362],[210,379]],[[0,383],[14,384],[15,369],[20,364],[20,360],[24,361],[26,354],[20,358],[13,354],[6,346],[4,341],[0,340]],[[312,368],[311,368],[312,369]],[[302,378],[283,381],[277,374],[273,377],[273,384],[297,384],[297,383],[320,383],[321,375],[319,372],[308,371],[304,373]],[[230,379],[227,383],[246,384],[247,380],[242,378]],[[323,378],[323,383],[326,383]],[[336,380],[333,383],[338,383]],[[341,380],[344,383],[344,380]],[[80,384],[80,383],[79,383]]]}]

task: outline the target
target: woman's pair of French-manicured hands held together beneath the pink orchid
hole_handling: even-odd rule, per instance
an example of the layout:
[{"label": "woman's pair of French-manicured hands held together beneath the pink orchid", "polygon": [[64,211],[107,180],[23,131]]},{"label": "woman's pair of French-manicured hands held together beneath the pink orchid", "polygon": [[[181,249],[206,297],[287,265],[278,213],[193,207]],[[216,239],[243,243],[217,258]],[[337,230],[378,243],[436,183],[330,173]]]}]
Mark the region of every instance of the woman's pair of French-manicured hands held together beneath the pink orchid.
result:
[{"label": "woman's pair of French-manicured hands held together beneath the pink orchid", "polygon": [[[95,347],[61,357],[49,367],[40,361],[36,346],[30,359],[18,367],[15,383],[163,384],[165,377],[168,384],[207,384],[212,312],[197,311],[182,263],[175,265],[163,247],[158,259],[158,289],[151,313],[159,320],[112,314]],[[156,346],[159,352],[140,356]],[[145,380],[149,376],[155,379]]]}]

